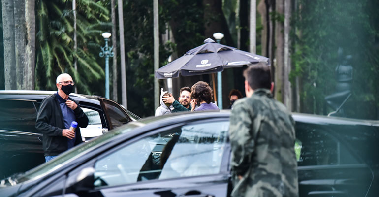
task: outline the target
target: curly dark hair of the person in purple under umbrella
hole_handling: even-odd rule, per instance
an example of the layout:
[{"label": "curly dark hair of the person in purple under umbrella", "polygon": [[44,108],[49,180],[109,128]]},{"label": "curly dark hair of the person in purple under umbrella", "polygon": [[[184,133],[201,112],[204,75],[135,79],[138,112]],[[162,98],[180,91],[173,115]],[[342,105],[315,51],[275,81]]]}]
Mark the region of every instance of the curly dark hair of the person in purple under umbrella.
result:
[{"label": "curly dark hair of the person in purple under umbrella", "polygon": [[198,81],[191,87],[191,97],[197,102],[205,101],[209,104],[213,98],[213,91],[207,82]]}]

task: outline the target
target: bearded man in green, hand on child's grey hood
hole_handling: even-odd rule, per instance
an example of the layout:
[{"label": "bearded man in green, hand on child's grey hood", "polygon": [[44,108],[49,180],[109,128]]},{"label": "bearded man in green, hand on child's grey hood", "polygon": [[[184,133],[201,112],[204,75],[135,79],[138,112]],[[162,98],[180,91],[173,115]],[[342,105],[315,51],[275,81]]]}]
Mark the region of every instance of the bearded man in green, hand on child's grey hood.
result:
[{"label": "bearded man in green, hand on child's grey hood", "polygon": [[170,96],[164,96],[163,102],[172,104],[174,110],[172,112],[191,111],[191,89],[189,87],[183,87],[180,89],[179,102],[174,99],[172,94]]}]

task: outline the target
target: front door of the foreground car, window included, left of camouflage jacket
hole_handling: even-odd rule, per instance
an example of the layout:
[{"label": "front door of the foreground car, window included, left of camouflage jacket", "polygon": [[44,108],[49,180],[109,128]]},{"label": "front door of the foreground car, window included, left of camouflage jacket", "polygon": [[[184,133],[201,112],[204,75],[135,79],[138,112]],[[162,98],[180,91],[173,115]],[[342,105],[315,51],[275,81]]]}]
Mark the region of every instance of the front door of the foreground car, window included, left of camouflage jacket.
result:
[{"label": "front door of the foreground car, window included, left of camouflage jacket", "polygon": [[70,173],[65,194],[226,197],[230,156],[228,128],[227,119],[206,120],[140,135],[88,162],[93,163],[91,189],[73,189],[78,171]]}]

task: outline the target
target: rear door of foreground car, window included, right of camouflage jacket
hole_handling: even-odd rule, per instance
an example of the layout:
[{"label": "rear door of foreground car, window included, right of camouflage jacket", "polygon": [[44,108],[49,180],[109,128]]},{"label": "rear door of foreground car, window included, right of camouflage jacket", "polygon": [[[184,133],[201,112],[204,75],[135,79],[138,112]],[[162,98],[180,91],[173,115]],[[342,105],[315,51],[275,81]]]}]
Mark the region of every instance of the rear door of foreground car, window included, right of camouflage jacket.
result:
[{"label": "rear door of foreground car, window included, right of camouflage jacket", "polygon": [[296,157],[300,197],[363,197],[373,179],[372,171],[354,147],[340,137],[337,125],[296,123]]}]

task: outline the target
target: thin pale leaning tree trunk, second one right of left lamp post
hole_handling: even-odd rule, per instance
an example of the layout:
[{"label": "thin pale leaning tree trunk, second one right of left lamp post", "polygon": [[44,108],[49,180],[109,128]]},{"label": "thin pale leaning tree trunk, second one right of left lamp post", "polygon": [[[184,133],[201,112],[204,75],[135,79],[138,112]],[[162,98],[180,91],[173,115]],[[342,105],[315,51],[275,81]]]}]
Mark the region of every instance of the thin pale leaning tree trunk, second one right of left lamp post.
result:
[{"label": "thin pale leaning tree trunk, second one right of left lamp post", "polygon": [[[125,67],[125,42],[124,42],[124,15],[123,15],[123,0],[117,0],[119,11],[119,28],[120,28],[120,57],[121,57],[121,93],[122,104],[127,109],[126,100],[126,67]],[[116,35],[115,35],[116,36]]]}]

